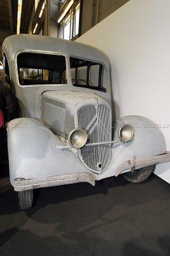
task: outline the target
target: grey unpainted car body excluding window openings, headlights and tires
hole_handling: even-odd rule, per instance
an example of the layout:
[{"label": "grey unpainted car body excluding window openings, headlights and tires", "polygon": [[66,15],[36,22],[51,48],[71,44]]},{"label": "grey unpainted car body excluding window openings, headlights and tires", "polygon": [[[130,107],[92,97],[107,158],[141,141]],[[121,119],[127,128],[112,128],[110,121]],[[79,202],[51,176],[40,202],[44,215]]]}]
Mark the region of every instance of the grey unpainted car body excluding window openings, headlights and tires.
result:
[{"label": "grey unpainted car body excluding window openings, headlights and tires", "polygon": [[[66,83],[20,84],[17,58],[24,52],[64,56]],[[19,109],[18,118],[8,124],[10,180],[15,191],[76,182],[94,185],[95,180],[125,172],[138,172],[139,168],[170,160],[164,136],[152,120],[133,115],[114,120],[110,61],[103,52],[89,45],[48,36],[13,35],[4,40],[3,54],[9,66],[10,86]],[[89,86],[73,85],[71,56],[103,65],[105,92]],[[95,155],[85,159],[88,150],[83,153],[81,148],[67,147],[69,133],[75,128],[82,128],[79,119],[85,115],[88,119],[88,115],[91,115],[88,114],[89,106],[97,109],[94,116],[98,121],[94,120],[94,116],[90,121],[85,121],[89,122],[87,134],[98,129],[102,139],[94,143],[102,142],[103,146],[96,144],[87,147],[96,148],[94,152],[99,152],[98,160],[95,160]],[[81,117],[80,109],[85,109]],[[52,129],[47,121],[49,118]],[[103,124],[99,124],[99,119]],[[120,127],[125,124],[134,129],[133,138],[128,143],[118,136]],[[93,167],[93,159],[97,167]]]}]

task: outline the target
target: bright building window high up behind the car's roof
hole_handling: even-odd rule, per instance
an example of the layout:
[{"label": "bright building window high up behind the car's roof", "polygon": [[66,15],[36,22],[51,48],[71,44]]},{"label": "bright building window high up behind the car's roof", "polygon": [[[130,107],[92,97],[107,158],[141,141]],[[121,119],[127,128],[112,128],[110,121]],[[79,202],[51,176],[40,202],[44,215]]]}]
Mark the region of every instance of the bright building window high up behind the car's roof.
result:
[{"label": "bright building window high up behind the car's roof", "polygon": [[63,19],[60,21],[58,37],[66,40],[78,38],[80,22],[80,1],[76,2],[75,10],[73,6],[69,9]]}]

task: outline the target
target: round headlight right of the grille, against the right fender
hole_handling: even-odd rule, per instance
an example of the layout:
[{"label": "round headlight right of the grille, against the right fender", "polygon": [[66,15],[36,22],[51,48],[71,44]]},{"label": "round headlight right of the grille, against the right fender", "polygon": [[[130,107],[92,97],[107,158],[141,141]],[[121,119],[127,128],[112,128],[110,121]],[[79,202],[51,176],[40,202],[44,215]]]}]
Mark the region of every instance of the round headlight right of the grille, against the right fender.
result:
[{"label": "round headlight right of the grille, against the right fender", "polygon": [[127,143],[134,138],[134,127],[129,124],[124,124],[118,129],[118,138]]}]

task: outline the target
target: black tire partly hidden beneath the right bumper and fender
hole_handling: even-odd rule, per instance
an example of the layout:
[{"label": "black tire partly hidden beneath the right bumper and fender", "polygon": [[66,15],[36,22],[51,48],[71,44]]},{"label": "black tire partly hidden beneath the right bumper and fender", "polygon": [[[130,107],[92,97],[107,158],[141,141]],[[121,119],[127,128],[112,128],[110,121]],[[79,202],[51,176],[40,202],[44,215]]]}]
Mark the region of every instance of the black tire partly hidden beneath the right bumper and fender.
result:
[{"label": "black tire partly hidden beneath the right bumper and fender", "polygon": [[146,166],[134,172],[127,172],[123,174],[124,178],[132,183],[140,183],[148,179],[153,172],[155,165]]}]

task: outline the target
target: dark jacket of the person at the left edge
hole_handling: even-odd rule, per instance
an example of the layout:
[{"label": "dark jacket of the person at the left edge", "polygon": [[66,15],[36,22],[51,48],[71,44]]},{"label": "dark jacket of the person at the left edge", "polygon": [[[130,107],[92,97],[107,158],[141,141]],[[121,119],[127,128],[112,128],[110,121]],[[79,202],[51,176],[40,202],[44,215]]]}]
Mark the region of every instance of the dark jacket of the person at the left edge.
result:
[{"label": "dark jacket of the person at the left edge", "polygon": [[15,118],[15,99],[10,89],[0,84],[0,108],[4,114],[4,124]]}]

